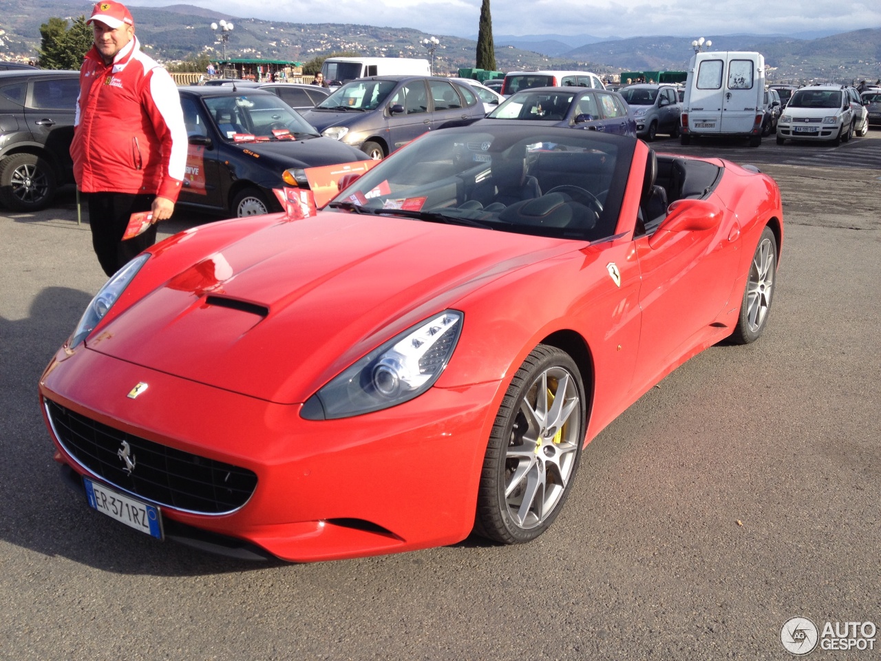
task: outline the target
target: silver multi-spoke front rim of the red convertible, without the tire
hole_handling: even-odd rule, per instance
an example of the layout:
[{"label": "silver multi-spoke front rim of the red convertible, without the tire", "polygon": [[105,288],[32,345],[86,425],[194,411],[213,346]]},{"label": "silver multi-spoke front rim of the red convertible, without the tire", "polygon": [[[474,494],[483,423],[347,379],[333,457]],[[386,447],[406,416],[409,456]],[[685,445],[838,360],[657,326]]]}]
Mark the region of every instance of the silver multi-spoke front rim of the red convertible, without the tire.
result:
[{"label": "silver multi-spoke front rim of the red convertible, without the tire", "polygon": [[574,376],[561,367],[539,374],[524,393],[505,456],[508,515],[524,530],[551,516],[573,477],[581,401]]}]

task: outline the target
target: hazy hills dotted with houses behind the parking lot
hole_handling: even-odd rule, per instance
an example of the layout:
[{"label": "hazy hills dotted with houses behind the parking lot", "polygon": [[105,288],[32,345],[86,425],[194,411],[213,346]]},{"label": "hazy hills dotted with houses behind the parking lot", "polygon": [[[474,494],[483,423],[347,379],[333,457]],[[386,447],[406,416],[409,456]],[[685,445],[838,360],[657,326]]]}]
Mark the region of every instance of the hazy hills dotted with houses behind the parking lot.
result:
[{"label": "hazy hills dotted with houses behind the parking lot", "polygon": [[[0,0],[0,57],[35,57],[40,26],[50,17],[76,19],[92,9],[73,0]],[[335,51],[364,56],[429,57],[421,41],[429,36],[414,29],[344,24],[290,23],[240,19],[189,4],[160,9],[131,6],[138,38],[147,52],[162,62],[181,60],[204,51],[219,59],[221,44],[212,21],[232,20],[226,45],[228,57],[306,62]],[[454,72],[474,65],[476,41],[437,35],[434,71]],[[770,80],[829,80],[881,77],[881,28],[849,33],[823,32],[792,35],[704,35],[716,50],[757,50],[765,55]],[[643,36],[601,39],[580,35],[499,35],[496,60],[502,71],[515,69],[589,69],[614,75],[619,71],[683,70],[692,56],[691,39]]]}]

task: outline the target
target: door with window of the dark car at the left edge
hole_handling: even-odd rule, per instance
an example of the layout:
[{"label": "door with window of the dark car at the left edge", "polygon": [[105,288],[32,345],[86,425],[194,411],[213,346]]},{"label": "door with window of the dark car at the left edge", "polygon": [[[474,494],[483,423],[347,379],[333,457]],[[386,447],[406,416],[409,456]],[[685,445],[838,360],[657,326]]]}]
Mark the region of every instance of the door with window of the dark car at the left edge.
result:
[{"label": "door with window of the dark car at the left edge", "polygon": [[31,81],[25,104],[25,121],[34,140],[46,145],[63,177],[73,181],[73,121],[77,112],[79,76],[59,75]]}]

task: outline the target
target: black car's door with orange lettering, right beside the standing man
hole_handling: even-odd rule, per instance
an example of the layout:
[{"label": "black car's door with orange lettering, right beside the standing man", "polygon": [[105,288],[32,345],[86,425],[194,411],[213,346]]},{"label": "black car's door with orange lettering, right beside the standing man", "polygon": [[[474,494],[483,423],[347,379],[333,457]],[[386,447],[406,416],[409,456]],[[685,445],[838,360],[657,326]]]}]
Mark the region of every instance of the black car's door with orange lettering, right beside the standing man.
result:
[{"label": "black car's door with orange lettering, right beside the standing man", "polygon": [[220,136],[199,100],[181,96],[183,123],[187,127],[187,166],[180,200],[186,204],[223,209],[227,187],[220,181]]}]

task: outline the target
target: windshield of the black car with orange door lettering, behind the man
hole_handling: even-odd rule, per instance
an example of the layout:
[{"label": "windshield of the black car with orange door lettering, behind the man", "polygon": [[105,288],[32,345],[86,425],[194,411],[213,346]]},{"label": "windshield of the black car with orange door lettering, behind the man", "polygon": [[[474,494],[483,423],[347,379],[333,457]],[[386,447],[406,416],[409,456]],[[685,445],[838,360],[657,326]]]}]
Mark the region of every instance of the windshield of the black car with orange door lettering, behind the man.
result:
[{"label": "windshield of the black car with orange door lettering, behind the man", "polygon": [[[275,94],[205,97],[220,135],[227,140],[290,139],[319,135],[296,110]],[[286,136],[286,137],[285,137]]]}]

